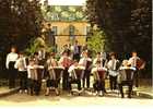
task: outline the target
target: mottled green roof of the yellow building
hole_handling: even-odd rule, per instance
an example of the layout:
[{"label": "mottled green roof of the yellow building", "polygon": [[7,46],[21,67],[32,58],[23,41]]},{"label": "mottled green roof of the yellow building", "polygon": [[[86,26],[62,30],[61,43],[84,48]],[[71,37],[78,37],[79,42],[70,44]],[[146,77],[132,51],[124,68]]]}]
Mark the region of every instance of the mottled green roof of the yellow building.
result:
[{"label": "mottled green roof of the yellow building", "polygon": [[46,21],[86,21],[83,5],[49,5],[47,11],[42,8]]}]

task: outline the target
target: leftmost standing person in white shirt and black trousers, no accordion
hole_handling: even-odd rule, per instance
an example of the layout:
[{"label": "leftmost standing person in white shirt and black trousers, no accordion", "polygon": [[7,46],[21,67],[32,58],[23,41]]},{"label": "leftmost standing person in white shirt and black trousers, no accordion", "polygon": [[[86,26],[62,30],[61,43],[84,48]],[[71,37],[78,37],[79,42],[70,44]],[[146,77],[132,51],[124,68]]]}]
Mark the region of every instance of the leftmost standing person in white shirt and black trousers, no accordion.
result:
[{"label": "leftmost standing person in white shirt and black trousers, no accordion", "polygon": [[9,71],[9,88],[15,87],[16,70],[14,69],[15,61],[17,60],[19,55],[16,53],[16,48],[12,47],[11,52],[7,56],[5,68]]}]

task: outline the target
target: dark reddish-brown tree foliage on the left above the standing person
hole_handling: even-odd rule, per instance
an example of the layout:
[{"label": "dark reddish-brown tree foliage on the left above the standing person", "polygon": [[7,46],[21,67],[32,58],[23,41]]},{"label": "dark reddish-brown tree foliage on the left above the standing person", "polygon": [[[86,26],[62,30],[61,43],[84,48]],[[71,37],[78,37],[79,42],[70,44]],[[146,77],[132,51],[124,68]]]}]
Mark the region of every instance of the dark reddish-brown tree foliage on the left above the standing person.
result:
[{"label": "dark reddish-brown tree foliage on the left above the standing person", "polygon": [[0,49],[5,51],[11,45],[26,48],[40,35],[42,21],[39,0],[0,0]]}]

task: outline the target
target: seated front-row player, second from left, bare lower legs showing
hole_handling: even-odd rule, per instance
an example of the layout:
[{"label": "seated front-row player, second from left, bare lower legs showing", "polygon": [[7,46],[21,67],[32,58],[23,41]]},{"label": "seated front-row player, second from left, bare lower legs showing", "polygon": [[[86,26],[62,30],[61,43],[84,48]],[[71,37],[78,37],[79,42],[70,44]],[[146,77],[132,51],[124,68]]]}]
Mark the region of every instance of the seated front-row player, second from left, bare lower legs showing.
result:
[{"label": "seated front-row player, second from left, bare lower legs showing", "polygon": [[49,56],[49,58],[47,59],[47,76],[46,76],[47,89],[46,89],[45,96],[49,95],[50,87],[55,87],[56,88],[56,95],[59,95],[59,92],[57,89],[58,88],[58,82],[56,81],[56,73],[54,71],[55,66],[58,66],[58,63],[57,63],[57,60],[54,58],[54,53],[51,53]]}]

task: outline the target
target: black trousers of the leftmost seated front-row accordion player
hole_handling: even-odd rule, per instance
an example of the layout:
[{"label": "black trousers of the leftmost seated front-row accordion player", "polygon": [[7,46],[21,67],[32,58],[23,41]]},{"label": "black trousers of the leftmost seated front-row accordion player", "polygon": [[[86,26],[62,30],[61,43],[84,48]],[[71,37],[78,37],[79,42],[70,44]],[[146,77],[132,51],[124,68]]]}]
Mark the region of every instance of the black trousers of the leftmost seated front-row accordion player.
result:
[{"label": "black trousers of the leftmost seated front-row accordion player", "polygon": [[40,82],[36,80],[28,78],[28,89],[31,95],[39,95],[40,92]]}]

